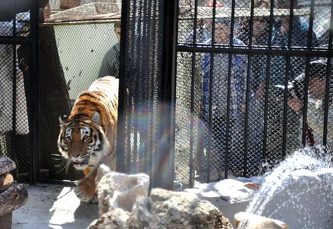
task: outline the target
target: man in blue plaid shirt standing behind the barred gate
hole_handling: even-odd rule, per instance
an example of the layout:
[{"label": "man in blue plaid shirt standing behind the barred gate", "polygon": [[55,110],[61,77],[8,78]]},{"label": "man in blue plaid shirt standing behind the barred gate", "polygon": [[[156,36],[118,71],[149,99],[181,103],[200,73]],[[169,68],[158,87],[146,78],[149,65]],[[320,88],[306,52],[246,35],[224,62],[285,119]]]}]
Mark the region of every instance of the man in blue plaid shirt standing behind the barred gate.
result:
[{"label": "man in blue plaid shirt standing behind the barred gate", "polygon": [[[229,44],[230,40],[229,18],[216,18],[215,43]],[[235,45],[244,45],[243,42],[234,38]],[[210,44],[211,40],[207,41]],[[210,66],[211,55],[203,55],[202,78],[201,78],[201,117],[204,125],[208,126],[210,107]],[[246,90],[246,55],[232,55],[231,78],[230,78],[230,103],[229,103],[229,131],[228,154],[232,153],[234,126],[237,118],[245,110]],[[228,54],[214,54],[214,69],[212,76],[212,139],[211,139],[211,168],[222,178],[224,172],[224,158],[226,146],[226,123],[227,123],[227,88],[228,88]],[[208,129],[208,127],[206,128]],[[208,151],[208,133],[204,134],[204,146]],[[242,164],[239,164],[242,166]],[[230,168],[232,169],[232,168]]]}]

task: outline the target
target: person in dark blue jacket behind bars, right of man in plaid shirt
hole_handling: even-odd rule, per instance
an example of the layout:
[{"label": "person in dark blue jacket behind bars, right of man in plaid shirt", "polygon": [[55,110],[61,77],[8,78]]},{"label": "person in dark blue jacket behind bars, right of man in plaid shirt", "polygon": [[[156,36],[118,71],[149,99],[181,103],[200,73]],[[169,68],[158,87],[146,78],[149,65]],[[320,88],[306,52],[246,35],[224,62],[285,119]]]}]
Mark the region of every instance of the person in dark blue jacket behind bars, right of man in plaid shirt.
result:
[{"label": "person in dark blue jacket behind bars, right of man in plaid shirt", "polygon": [[[278,0],[277,6],[279,9],[290,9],[289,0]],[[294,8],[299,9],[297,0],[294,1]],[[288,46],[290,15],[282,15],[278,18],[274,25],[275,32],[272,36],[272,46],[286,47]],[[292,40],[291,46],[307,47],[309,25],[305,24],[298,16],[293,18]],[[317,46],[317,37],[315,33],[312,35],[312,45]],[[272,55],[270,62],[269,74],[269,97],[268,97],[268,119],[267,119],[267,158],[268,167],[271,167],[277,160],[283,156],[283,136],[284,136],[284,93],[281,93],[280,88],[285,85],[286,77],[286,55]],[[289,61],[288,81],[292,81],[298,72],[305,68],[306,58],[291,57]],[[262,71],[263,80],[260,83],[257,97],[264,102],[265,98],[265,79],[266,66],[263,65]],[[301,128],[299,116],[294,110],[287,106],[286,116],[286,154],[293,152],[301,147]]]}]

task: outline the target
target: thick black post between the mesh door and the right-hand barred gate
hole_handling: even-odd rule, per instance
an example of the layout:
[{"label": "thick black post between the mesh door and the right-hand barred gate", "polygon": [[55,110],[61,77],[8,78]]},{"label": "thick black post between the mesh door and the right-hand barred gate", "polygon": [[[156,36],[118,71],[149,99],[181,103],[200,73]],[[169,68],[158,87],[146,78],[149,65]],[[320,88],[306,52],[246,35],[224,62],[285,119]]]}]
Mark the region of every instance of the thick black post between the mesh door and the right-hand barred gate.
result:
[{"label": "thick black post between the mesh door and the right-hand barred gate", "polygon": [[[160,155],[158,163],[158,187],[173,189],[174,180],[174,131],[175,131],[175,78],[177,40],[177,1],[164,3],[163,65],[162,65],[162,113],[160,120]],[[164,163],[166,162],[166,163]],[[164,172],[163,172],[164,171]]]}]

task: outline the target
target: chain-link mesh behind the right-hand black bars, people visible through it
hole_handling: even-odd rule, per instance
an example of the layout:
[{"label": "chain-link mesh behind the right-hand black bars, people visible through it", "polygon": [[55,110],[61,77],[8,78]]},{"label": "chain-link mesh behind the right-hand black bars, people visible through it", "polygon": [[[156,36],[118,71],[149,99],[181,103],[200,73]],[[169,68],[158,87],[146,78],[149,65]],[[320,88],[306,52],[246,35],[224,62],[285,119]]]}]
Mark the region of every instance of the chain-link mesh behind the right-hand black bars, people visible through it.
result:
[{"label": "chain-link mesh behind the right-hand black bars, people visible through it", "polygon": [[[190,186],[258,175],[302,145],[323,144],[326,118],[331,145],[330,58],[320,57],[331,48],[331,3],[215,2],[180,1],[175,173]],[[313,53],[300,54],[306,48]]]}]

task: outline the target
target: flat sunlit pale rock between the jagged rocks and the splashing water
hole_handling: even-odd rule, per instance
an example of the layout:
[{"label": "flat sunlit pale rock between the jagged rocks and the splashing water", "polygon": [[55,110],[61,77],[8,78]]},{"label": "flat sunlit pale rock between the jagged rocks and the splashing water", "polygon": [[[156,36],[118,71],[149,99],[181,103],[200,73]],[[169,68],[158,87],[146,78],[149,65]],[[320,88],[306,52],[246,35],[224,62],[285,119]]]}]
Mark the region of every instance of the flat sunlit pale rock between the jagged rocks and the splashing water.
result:
[{"label": "flat sunlit pale rock between the jagged rocks and the splashing water", "polygon": [[260,178],[225,179],[208,184],[196,184],[185,192],[197,195],[199,199],[209,201],[217,207],[223,216],[236,227],[234,215],[246,210],[254,190],[248,188],[247,182],[260,182]]}]

